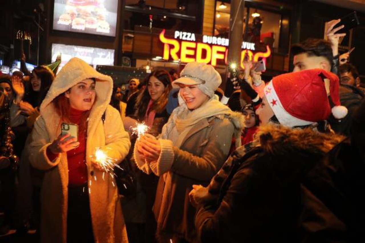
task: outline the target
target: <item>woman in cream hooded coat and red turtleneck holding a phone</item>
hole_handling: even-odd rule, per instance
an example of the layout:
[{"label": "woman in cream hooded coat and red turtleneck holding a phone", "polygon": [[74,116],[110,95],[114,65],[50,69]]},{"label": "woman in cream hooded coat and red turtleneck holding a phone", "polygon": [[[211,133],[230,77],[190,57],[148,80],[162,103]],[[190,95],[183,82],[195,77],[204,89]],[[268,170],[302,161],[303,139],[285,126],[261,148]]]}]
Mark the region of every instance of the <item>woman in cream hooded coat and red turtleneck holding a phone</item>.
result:
[{"label": "woman in cream hooded coat and red turtleneck holding a phone", "polygon": [[[130,147],[109,105],[112,86],[111,77],[72,58],[41,104],[27,147],[32,166],[45,171],[41,242],[128,242],[115,178],[95,159],[98,149],[119,163]],[[62,123],[78,126],[77,138],[62,135]]]}]

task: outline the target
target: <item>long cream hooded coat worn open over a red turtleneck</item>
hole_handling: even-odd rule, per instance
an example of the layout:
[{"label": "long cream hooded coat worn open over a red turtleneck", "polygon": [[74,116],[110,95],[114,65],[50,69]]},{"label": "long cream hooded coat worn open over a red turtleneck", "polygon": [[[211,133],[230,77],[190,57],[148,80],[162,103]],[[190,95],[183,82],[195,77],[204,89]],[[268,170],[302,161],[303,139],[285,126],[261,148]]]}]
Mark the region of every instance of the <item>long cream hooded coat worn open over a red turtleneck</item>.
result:
[{"label": "long cream hooded coat worn open over a red turtleneck", "polygon": [[[115,179],[92,163],[97,147],[115,161],[121,161],[130,147],[129,136],[115,108],[109,105],[113,81],[111,77],[96,72],[78,58],[72,58],[59,72],[34,124],[29,154],[31,164],[45,170],[41,190],[41,240],[64,243],[67,241],[69,167],[66,152],[59,153],[50,161],[47,147],[52,146],[61,133],[61,117],[52,101],[84,80],[95,80],[95,102],[87,123],[85,142],[87,186],[91,224],[95,242],[128,242],[119,203]],[[105,113],[105,120],[102,117]],[[88,139],[92,138],[92,139]],[[116,162],[118,163],[118,162]]]}]

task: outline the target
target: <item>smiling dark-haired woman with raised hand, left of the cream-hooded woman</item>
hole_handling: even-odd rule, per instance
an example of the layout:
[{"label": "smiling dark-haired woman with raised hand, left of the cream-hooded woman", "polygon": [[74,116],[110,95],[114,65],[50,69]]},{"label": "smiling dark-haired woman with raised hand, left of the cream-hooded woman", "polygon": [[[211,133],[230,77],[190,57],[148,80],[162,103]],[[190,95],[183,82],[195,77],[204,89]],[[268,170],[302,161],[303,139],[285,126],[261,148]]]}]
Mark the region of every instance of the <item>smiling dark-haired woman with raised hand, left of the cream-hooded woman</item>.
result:
[{"label": "smiling dark-haired woman with raised hand, left of the cream-hooded woman", "polygon": [[43,171],[31,167],[28,155],[23,151],[24,147],[29,145],[30,139],[27,137],[39,116],[39,107],[53,80],[53,72],[45,66],[37,66],[33,69],[28,84],[24,85],[20,78],[12,78],[15,99],[11,107],[11,123],[16,136],[14,150],[20,157],[16,207],[20,224],[18,229],[23,231],[27,231],[29,227],[39,229],[39,197],[43,180]]}]

